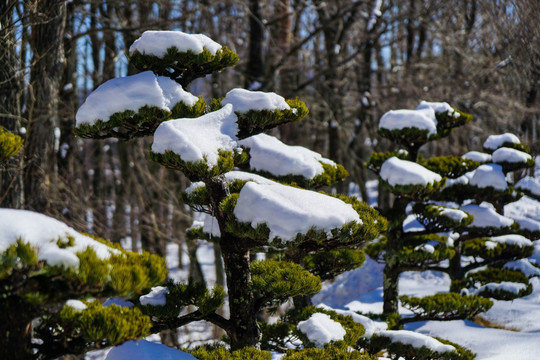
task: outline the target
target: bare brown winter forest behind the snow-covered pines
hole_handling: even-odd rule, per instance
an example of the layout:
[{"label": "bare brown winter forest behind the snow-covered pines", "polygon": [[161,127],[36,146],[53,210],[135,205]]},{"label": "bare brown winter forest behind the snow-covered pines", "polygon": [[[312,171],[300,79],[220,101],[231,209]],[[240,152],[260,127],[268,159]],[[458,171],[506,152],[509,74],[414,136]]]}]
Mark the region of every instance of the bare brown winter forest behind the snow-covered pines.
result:
[{"label": "bare brown winter forest behind the snow-covered pines", "polygon": [[[202,279],[197,244],[184,237],[189,181],[146,161],[151,139],[72,133],[86,96],[134,71],[127,46],[143,31],[203,33],[240,55],[236,67],[192,83],[194,95],[246,87],[300,97],[308,118],[274,135],[343,164],[351,176],[338,190],[358,184],[367,200],[375,175],[364,163],[390,146],[377,136],[380,116],[420,100],[475,118],[426,145],[425,156],[480,150],[487,135],[505,131],[540,152],[539,14],[537,0],[1,0],[0,125],[24,148],[0,165],[0,207],[132,239],[134,251],[164,255],[178,243],[190,276]],[[217,279],[223,285],[222,272]]]}]

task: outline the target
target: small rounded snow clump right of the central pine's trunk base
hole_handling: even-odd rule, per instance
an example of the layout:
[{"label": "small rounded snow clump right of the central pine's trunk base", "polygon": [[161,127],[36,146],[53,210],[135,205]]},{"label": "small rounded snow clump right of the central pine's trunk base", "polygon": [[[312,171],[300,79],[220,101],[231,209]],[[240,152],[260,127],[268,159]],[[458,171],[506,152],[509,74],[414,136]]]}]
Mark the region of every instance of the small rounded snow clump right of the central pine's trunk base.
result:
[{"label": "small rounded snow clump right of the central pine's trunk base", "polygon": [[318,348],[324,347],[330,341],[343,340],[345,336],[343,326],[323,313],[315,313],[309,319],[300,321],[297,328]]}]

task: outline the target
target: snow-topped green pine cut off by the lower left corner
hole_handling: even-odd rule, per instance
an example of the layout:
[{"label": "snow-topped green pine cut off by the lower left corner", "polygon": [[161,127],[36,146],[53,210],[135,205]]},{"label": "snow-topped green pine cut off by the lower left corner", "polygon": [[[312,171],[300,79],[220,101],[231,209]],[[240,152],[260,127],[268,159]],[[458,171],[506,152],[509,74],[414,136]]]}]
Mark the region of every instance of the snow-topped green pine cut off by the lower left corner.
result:
[{"label": "snow-topped green pine cut off by the lower left corner", "polygon": [[163,259],[136,254],[25,210],[0,209],[0,357],[52,359],[150,334],[138,308],[101,304],[165,280]]}]

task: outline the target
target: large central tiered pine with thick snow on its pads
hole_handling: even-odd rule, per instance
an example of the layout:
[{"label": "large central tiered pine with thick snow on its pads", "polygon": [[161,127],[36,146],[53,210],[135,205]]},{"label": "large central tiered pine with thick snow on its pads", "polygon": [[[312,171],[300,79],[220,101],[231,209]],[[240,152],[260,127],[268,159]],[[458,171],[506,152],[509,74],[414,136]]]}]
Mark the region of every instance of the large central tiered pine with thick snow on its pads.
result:
[{"label": "large central tiered pine with thick snow on its pads", "polygon": [[[385,220],[354,199],[303,189],[331,185],[346,171],[317,153],[263,134],[304,118],[308,110],[302,101],[233,89],[206,105],[202,96],[184,89],[194,79],[234,65],[238,57],[227,47],[204,35],[147,31],[130,54],[143,72],[112,79],[90,94],[77,114],[76,132],[122,140],[153,134],[150,159],[193,182],[186,202],[210,216],[210,230],[196,232],[219,242],[230,318],[216,312],[222,297],[199,301],[200,293],[172,283],[156,290],[163,302],[144,311],[152,316],[153,330],[206,320],[226,331],[232,349],[259,347],[260,310],[320,289],[319,277],[300,264],[312,264],[310,270],[325,277],[332,264],[321,267],[316,256],[357,251],[385,229]],[[251,262],[254,252],[278,250],[290,261]],[[196,310],[179,316],[187,304]]]}]

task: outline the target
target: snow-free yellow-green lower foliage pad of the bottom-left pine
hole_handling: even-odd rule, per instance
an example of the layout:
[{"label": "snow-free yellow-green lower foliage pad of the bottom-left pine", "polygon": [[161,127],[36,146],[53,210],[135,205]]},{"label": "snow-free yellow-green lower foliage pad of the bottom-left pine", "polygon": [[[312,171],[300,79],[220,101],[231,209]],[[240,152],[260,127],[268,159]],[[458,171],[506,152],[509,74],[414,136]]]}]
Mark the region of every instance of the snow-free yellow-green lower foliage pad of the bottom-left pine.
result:
[{"label": "snow-free yellow-green lower foliage pad of the bottom-left pine", "polygon": [[105,343],[108,346],[150,335],[150,318],[137,308],[102,306],[98,301],[89,302],[87,306],[85,310],[65,306],[55,329],[65,331],[65,338],[81,337],[87,344]]}]

